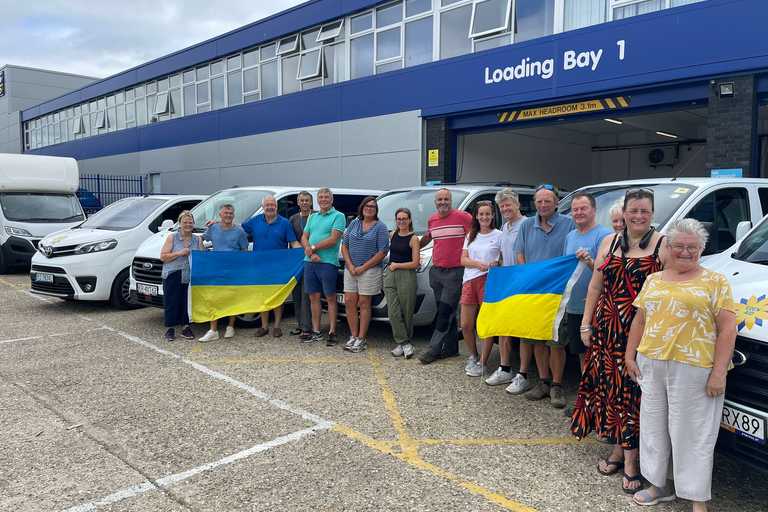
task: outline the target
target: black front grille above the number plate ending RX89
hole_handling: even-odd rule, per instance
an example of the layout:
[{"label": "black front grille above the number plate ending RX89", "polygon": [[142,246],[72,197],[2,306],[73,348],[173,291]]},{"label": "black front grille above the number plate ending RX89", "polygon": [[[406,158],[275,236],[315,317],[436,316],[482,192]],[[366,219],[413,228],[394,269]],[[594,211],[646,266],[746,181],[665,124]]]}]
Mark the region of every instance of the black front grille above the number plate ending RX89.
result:
[{"label": "black front grille above the number plate ending RX89", "polygon": [[768,344],[737,336],[736,350],[744,353],[747,361],[728,372],[725,397],[768,412]]}]

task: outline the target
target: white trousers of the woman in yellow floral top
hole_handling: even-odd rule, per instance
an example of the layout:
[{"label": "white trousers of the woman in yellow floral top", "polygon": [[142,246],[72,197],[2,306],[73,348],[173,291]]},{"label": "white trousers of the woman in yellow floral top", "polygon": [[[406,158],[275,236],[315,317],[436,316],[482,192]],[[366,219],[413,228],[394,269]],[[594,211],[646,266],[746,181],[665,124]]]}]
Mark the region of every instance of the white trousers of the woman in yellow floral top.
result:
[{"label": "white trousers of the woman in yellow floral top", "polygon": [[675,494],[712,498],[712,464],[723,395],[707,396],[710,368],[658,361],[637,354],[640,368],[640,472],[651,484],[667,482],[670,455]]}]

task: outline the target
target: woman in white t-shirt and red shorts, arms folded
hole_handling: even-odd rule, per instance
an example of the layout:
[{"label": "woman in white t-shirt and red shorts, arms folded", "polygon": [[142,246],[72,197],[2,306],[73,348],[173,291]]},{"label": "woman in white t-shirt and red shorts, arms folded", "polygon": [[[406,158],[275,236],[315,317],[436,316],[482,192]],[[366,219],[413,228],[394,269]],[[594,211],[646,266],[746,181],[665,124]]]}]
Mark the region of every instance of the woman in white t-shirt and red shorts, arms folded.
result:
[{"label": "woman in white t-shirt and red shorts, arms folded", "polygon": [[470,377],[481,377],[485,363],[493,348],[493,343],[479,340],[480,356],[477,354],[475,341],[475,322],[480,304],[483,303],[485,281],[488,270],[499,264],[501,257],[501,231],[496,229],[495,212],[490,201],[478,201],[472,216],[472,227],[464,241],[461,252],[461,264],[464,266],[464,278],[461,287],[461,332],[464,343],[469,349],[469,360],[464,373]]}]

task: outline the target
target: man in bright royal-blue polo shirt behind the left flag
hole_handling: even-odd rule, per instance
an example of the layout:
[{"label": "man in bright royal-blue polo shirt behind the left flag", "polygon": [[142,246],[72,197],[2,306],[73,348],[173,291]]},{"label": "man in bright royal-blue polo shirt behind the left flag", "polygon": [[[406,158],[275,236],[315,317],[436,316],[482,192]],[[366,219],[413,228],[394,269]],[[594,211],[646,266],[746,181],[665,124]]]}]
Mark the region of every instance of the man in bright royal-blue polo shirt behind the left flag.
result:
[{"label": "man in bright royal-blue polo shirt behind the left flag", "polygon": [[[243,224],[243,230],[251,235],[253,251],[274,251],[299,247],[296,234],[293,232],[288,219],[277,214],[277,201],[274,196],[266,196],[261,200],[262,213],[251,218]],[[283,306],[277,306],[272,310],[275,323],[272,327],[272,337],[279,338],[283,335],[280,330],[280,321],[283,317]],[[269,333],[269,311],[261,312],[261,327],[256,329],[254,336],[261,338]]]}]

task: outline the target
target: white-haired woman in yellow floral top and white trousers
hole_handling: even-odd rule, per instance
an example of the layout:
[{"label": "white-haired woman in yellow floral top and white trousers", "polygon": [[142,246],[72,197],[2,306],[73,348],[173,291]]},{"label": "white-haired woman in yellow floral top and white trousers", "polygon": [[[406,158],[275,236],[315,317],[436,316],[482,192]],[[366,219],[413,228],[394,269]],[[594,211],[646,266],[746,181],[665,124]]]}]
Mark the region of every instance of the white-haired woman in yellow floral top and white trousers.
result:
[{"label": "white-haired woman in yellow floral top and white trousers", "polygon": [[[697,220],[672,224],[667,264],[648,277],[634,301],[625,361],[643,390],[640,472],[651,483],[635,493],[639,505],[671,501],[676,494],[703,512],[711,499],[736,314],[725,276],[699,264],[707,237]],[[667,485],[670,456],[674,490]]]}]

